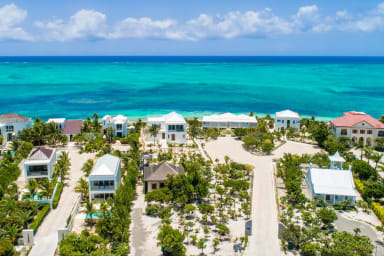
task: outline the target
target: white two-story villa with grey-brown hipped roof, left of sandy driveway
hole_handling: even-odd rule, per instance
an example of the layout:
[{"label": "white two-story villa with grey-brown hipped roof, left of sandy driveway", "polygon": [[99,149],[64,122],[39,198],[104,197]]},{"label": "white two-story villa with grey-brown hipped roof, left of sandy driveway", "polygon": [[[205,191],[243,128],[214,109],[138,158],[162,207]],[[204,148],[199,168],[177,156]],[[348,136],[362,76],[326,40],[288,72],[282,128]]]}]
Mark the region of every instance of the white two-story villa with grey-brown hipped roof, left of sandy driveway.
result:
[{"label": "white two-story villa with grey-brown hipped roof, left of sandy driveway", "polygon": [[56,149],[38,147],[32,150],[24,162],[24,175],[26,179],[51,179],[56,161]]}]

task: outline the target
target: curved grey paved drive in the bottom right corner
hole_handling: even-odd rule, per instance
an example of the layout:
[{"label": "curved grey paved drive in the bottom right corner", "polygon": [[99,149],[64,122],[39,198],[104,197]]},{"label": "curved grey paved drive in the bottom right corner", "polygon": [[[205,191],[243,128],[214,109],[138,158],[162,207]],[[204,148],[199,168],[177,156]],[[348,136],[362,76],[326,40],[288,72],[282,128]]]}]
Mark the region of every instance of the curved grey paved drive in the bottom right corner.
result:
[{"label": "curved grey paved drive in the bottom right corner", "polygon": [[377,251],[375,249],[374,255],[384,255],[383,243],[378,239],[376,230],[372,226],[359,221],[347,219],[340,213],[337,214],[337,217],[338,219],[335,221],[335,226],[338,231],[347,231],[353,234],[353,230],[355,228],[359,228],[361,231],[360,235],[369,237],[373,244],[377,246]]}]

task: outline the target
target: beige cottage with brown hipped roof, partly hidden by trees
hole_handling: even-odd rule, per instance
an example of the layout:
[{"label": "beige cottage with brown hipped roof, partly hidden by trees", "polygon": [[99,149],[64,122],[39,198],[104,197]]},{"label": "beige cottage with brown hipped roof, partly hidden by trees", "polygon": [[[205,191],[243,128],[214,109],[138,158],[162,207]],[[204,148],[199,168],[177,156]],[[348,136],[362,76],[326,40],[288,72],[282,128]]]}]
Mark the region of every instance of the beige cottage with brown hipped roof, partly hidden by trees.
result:
[{"label": "beige cottage with brown hipped roof, partly hidden by trees", "polygon": [[145,191],[151,192],[154,189],[164,187],[164,181],[168,175],[184,173],[184,168],[169,163],[161,163],[144,168]]}]

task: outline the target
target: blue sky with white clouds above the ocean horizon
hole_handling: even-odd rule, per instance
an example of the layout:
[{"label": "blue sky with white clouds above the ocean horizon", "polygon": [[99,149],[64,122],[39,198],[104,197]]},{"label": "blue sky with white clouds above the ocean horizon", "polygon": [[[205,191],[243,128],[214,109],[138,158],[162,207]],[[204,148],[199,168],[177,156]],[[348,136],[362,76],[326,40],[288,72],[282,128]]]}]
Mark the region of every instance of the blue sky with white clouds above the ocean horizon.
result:
[{"label": "blue sky with white clouds above the ocean horizon", "polygon": [[1,56],[384,56],[384,1],[0,0]]}]

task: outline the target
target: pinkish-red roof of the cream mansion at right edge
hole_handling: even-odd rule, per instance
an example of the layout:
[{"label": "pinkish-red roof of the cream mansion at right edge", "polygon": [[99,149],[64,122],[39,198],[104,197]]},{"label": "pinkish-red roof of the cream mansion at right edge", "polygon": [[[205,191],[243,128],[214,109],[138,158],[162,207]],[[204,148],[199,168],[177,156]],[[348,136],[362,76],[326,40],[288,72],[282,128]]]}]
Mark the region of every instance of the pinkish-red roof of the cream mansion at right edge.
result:
[{"label": "pinkish-red roof of the cream mansion at right edge", "polygon": [[363,112],[350,111],[344,113],[344,116],[331,120],[330,122],[335,126],[352,127],[358,123],[366,122],[375,128],[384,129],[384,124],[379,120],[367,115]]}]

